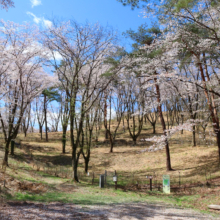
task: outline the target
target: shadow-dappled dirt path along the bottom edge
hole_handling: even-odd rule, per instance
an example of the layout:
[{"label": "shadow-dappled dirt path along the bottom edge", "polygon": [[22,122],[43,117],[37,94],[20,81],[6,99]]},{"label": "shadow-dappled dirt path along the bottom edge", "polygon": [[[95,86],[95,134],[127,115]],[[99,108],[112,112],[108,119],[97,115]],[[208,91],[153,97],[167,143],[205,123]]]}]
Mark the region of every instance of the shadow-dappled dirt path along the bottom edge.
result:
[{"label": "shadow-dappled dirt path along the bottom edge", "polygon": [[1,220],[151,220],[151,219],[220,219],[189,209],[164,204],[129,203],[111,205],[74,205],[62,203],[8,202],[0,206]]}]

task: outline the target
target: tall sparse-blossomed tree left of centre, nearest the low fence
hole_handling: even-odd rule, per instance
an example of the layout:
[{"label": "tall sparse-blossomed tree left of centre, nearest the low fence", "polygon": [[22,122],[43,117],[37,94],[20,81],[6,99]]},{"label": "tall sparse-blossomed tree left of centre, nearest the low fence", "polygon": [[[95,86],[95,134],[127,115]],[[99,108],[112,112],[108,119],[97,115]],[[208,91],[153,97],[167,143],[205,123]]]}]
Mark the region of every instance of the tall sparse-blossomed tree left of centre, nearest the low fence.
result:
[{"label": "tall sparse-blossomed tree left of centre, nearest the low fence", "polygon": [[[45,32],[44,45],[51,51],[53,58],[49,62],[54,66],[70,103],[70,139],[75,181],[78,181],[77,167],[81,154],[79,144],[86,112],[116,73],[116,70],[109,72],[111,66],[103,64],[115,52],[115,39],[116,35],[111,29],[105,29],[99,24],[81,25],[75,21],[54,22]],[[62,65],[57,59],[58,55]],[[106,72],[108,74],[105,75]],[[74,129],[77,129],[76,134]]]}]

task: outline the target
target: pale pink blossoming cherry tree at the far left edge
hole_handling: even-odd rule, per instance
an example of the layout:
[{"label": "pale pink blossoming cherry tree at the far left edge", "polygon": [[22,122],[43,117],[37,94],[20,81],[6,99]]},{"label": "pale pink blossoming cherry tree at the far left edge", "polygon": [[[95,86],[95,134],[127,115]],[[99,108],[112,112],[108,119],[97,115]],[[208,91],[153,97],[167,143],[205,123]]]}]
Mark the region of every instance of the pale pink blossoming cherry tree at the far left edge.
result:
[{"label": "pale pink blossoming cherry tree at the far left edge", "polygon": [[0,121],[5,137],[5,156],[3,165],[8,165],[9,145],[16,137],[27,107],[45,86],[53,82],[43,69],[46,55],[39,46],[38,28],[28,24],[18,25],[1,21],[1,57],[7,71],[1,71]]}]

